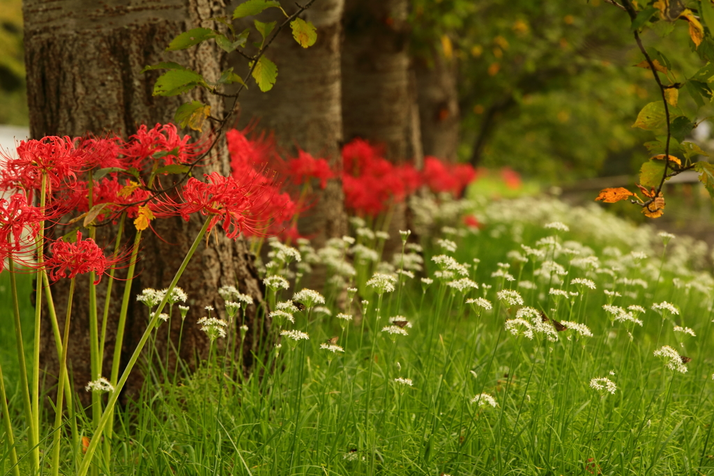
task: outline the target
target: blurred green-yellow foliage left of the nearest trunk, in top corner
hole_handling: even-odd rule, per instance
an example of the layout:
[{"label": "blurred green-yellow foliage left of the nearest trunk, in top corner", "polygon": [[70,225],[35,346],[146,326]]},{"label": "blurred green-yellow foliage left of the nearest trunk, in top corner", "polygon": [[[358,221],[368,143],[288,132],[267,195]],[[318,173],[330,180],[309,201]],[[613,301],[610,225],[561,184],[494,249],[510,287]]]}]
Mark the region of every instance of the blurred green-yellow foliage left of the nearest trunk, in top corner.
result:
[{"label": "blurred green-yellow foliage left of the nearest trunk, in top corner", "polygon": [[22,46],[22,1],[0,0],[0,124],[29,124]]}]

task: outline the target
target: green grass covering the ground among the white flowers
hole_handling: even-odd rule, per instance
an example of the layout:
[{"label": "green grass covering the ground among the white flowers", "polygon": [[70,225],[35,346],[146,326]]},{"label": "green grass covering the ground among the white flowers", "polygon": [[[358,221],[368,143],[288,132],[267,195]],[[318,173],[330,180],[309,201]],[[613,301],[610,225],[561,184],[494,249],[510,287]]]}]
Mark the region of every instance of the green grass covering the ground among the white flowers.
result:
[{"label": "green grass covering the ground among the white flowers", "polygon": [[[531,213],[503,211],[519,207]],[[296,313],[296,322],[286,328],[310,339],[294,348],[288,338],[279,350],[271,345],[247,378],[238,373],[238,363],[223,360],[226,343],[219,339],[211,358],[196,372],[182,373],[175,387],[164,385],[156,370],[141,398],[117,418],[111,458],[96,455],[97,474],[714,474],[714,362],[708,352],[713,280],[695,271],[694,245],[673,240],[655,284],[662,247],[651,231],[543,201],[481,203],[477,213],[486,228],[451,239],[458,243],[453,253],[458,262],[481,260],[469,270],[478,290],[464,295],[435,278],[431,255],[442,251],[428,240],[422,275],[434,283],[426,293],[419,275],[381,301],[372,288],[359,285],[351,312],[362,308],[364,318],[342,329],[336,314],[345,311],[336,304],[337,294],[326,292],[333,315]],[[555,277],[533,276],[543,260],[521,265],[509,254],[523,253],[521,243],[536,248],[540,238],[553,235],[543,224],[555,219],[571,229],[559,233],[558,243],[582,253],[588,246],[601,268],[618,268],[615,278],[571,265],[573,257],[565,253],[547,255],[545,260],[553,258],[568,270],[559,285]],[[609,227],[609,239],[603,238],[608,236],[603,227]],[[634,260],[628,243],[651,258]],[[510,265],[503,268],[516,280],[493,278],[498,263]],[[356,268],[358,283],[371,277],[368,265],[357,260]],[[572,302],[548,294],[551,287],[578,291],[570,285],[573,278],[591,279],[596,289],[585,288]],[[643,280],[647,288],[621,278]],[[525,281],[536,287],[518,286]],[[576,339],[572,330],[558,333],[557,342],[511,335],[504,323],[520,306],[509,308],[496,298],[502,286],[520,290],[526,306],[542,308],[555,320],[588,325],[593,337]],[[621,294],[614,305],[647,309],[631,338],[603,310],[611,300],[605,289]],[[291,296],[283,291],[278,300]],[[465,303],[477,297],[490,300],[493,310],[479,313]],[[650,310],[664,300],[680,315],[663,320]],[[391,340],[381,329],[395,315],[405,316],[412,327]],[[680,345],[675,324],[697,336]],[[9,346],[9,337],[1,336]],[[344,353],[321,349],[333,336]],[[655,358],[653,351],[663,345],[693,359],[687,373],[673,373]],[[6,355],[2,358],[5,369]],[[400,377],[413,385],[397,383]],[[614,395],[590,388],[591,379],[602,377],[615,382]],[[481,393],[492,395],[496,407],[471,402]],[[89,428],[85,422],[85,431]],[[19,448],[24,453],[22,444]],[[65,474],[73,474],[69,450],[63,457]]]}]

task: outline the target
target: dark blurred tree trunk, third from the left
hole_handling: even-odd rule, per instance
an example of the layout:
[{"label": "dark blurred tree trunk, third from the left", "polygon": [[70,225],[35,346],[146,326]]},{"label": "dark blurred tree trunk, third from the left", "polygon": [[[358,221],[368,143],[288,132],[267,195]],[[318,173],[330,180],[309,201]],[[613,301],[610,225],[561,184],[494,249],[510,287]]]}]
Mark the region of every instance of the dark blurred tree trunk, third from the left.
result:
[{"label": "dark blurred tree trunk, third from the left", "polygon": [[[393,162],[421,167],[416,81],[409,70],[407,0],[346,0],[342,50],[342,120],[347,141],[361,137],[384,146]],[[406,206],[398,203],[385,246],[401,246]]]}]

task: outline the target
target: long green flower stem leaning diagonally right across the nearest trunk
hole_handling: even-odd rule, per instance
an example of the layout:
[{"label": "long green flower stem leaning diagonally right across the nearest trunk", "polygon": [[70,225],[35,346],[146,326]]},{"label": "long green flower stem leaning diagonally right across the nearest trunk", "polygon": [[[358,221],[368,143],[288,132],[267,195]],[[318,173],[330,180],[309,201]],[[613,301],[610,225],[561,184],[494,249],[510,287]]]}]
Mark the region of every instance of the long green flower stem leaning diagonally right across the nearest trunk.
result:
[{"label": "long green flower stem leaning diagonally right across the nearest trunk", "polygon": [[[141,350],[144,349],[144,345],[146,344],[146,340],[149,340],[149,336],[151,336],[151,331],[156,327],[156,320],[159,319],[159,314],[161,314],[161,311],[164,310],[164,306],[166,306],[166,303],[169,300],[169,295],[171,295],[171,291],[174,290],[176,287],[176,283],[178,283],[178,279],[181,278],[181,275],[183,274],[183,271],[186,270],[186,266],[188,265],[188,262],[193,258],[193,253],[196,252],[196,249],[198,248],[198,245],[201,244],[201,240],[203,239],[203,236],[206,234],[206,230],[208,230],[208,225],[211,223],[211,216],[208,216],[206,218],[206,221],[203,223],[203,227],[201,228],[201,231],[198,232],[198,235],[196,236],[196,239],[193,240],[193,245],[191,245],[191,249],[188,250],[188,253],[186,254],[186,257],[183,258],[183,263],[181,263],[181,267],[178,268],[178,271],[176,271],[176,275],[174,275],[174,279],[171,280],[171,284],[169,285],[169,288],[166,290],[166,295],[164,295],[164,299],[161,300],[161,304],[159,304],[159,308],[156,310],[154,315],[151,316],[151,321],[149,322],[149,325],[146,326],[146,330],[144,330],[144,335],[141,336],[141,340],[139,340],[139,344],[136,345],[136,349],[134,349],[134,353],[131,355],[131,358],[129,359],[129,363],[127,363],[126,368],[124,369],[124,373],[121,374],[121,378],[119,379],[119,382],[114,385],[114,391],[109,394],[109,401],[106,403],[106,411],[104,414],[101,415],[101,420],[99,420],[99,425],[96,427],[96,430],[94,430],[94,437],[92,437],[91,442],[89,443],[89,447],[86,450],[86,453],[84,454],[84,458],[82,459],[81,465],[79,467],[79,471],[77,472],[77,476],[86,476],[87,471],[89,470],[89,465],[91,465],[91,460],[92,457],[94,457],[94,452],[96,451],[96,447],[99,445],[99,440],[101,440],[101,434],[104,432],[104,427],[106,427],[107,423],[109,420],[112,419],[112,415],[114,415],[114,405],[116,404],[116,400],[119,399],[119,393],[121,392],[121,389],[124,388],[124,384],[126,383],[126,380],[129,378],[129,373],[131,373],[131,370],[134,368],[134,365],[136,364],[136,360],[139,360],[139,355],[141,355]],[[134,263],[134,261],[132,261]],[[131,273],[131,266],[129,269],[129,273]],[[127,286],[129,286],[131,283],[127,282]],[[126,293],[125,293],[126,294]],[[122,305],[122,308],[124,306]],[[117,335],[117,345],[119,345],[119,334]],[[116,355],[116,353],[115,353]]]}]

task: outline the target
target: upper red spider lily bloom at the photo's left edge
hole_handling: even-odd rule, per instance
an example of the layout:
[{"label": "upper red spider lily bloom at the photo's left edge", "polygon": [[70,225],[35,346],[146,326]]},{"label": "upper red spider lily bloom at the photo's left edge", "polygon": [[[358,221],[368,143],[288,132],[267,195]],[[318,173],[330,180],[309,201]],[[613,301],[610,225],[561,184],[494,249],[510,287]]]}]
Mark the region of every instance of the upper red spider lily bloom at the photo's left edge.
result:
[{"label": "upper red spider lily bloom at the photo's left edge", "polygon": [[68,136],[21,141],[17,157],[0,156],[0,187],[39,190],[44,174],[50,189],[58,187],[66,178],[76,178],[88,165],[88,157],[89,151],[78,148]]}]

